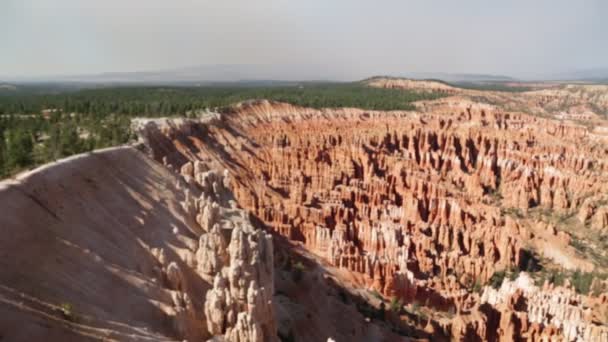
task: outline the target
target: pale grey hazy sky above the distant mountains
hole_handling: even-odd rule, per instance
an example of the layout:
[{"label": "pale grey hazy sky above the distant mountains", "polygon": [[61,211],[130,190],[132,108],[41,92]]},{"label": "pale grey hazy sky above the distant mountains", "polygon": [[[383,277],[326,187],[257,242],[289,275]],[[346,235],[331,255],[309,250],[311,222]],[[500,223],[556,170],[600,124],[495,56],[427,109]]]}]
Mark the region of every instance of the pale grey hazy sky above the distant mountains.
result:
[{"label": "pale grey hazy sky above the distant mountains", "polygon": [[214,64],[530,76],[607,67],[607,18],[606,0],[0,0],[0,77]]}]

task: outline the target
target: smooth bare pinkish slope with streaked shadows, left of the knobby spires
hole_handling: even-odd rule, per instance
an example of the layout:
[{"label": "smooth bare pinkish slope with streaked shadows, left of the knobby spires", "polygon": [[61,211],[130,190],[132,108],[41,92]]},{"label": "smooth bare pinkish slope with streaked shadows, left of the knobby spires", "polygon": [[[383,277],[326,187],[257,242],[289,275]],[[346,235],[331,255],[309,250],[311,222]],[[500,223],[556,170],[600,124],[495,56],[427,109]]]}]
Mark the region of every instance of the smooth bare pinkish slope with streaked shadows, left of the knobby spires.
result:
[{"label": "smooth bare pinkish slope with streaked shadows, left of the knobby spires", "polygon": [[179,253],[192,235],[174,178],[123,147],[0,183],[0,340],[173,336],[151,249]]}]

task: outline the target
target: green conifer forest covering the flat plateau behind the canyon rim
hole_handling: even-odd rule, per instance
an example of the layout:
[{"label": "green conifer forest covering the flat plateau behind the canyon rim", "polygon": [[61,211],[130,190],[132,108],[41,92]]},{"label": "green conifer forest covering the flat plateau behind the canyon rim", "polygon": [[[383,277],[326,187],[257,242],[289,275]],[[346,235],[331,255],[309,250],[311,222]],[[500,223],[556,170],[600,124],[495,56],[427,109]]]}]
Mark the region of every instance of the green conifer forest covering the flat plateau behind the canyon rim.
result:
[{"label": "green conifer forest covering the flat plateau behind the canyon rim", "polygon": [[248,99],[295,105],[412,110],[413,102],[440,93],[369,88],[359,83],[291,86],[110,87],[57,89],[21,87],[0,93],[0,177],[132,138],[137,116],[194,116]]}]

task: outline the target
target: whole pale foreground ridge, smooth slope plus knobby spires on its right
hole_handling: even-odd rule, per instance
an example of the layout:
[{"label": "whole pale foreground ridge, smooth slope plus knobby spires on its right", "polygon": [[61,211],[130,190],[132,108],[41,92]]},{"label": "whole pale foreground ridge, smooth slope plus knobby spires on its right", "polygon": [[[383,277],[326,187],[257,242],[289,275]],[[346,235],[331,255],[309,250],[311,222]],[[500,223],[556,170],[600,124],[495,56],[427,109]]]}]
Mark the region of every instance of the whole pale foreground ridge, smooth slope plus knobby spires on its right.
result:
[{"label": "whole pale foreground ridge, smooth slope plus knobby spires on its right", "polygon": [[276,340],[272,238],[182,174],[122,147],[2,182],[0,339]]}]

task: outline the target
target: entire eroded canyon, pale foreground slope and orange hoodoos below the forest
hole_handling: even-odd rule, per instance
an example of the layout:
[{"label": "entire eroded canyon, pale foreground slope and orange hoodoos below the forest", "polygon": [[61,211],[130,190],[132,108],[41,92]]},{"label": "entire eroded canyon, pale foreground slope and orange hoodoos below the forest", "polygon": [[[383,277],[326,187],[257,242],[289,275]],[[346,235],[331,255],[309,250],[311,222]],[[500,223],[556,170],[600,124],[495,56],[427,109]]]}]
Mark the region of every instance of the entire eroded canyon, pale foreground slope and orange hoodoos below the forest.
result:
[{"label": "entire eroded canyon, pale foreground slope and orange hoodoos below the forest", "polygon": [[136,119],[3,181],[0,340],[608,341],[608,91],[369,85],[449,96]]}]

